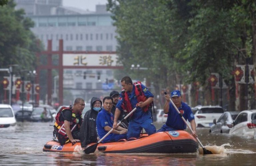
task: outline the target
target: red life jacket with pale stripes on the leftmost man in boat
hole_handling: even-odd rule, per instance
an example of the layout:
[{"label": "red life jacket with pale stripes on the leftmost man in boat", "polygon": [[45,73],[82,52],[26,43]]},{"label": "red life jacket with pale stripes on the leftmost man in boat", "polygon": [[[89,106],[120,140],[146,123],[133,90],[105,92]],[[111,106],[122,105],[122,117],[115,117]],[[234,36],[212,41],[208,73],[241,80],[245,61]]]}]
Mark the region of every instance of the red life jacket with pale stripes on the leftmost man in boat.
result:
[{"label": "red life jacket with pale stripes on the leftmost man in boat", "polygon": [[[55,117],[55,124],[54,124],[54,127],[55,127],[55,130],[64,136],[64,138],[68,138],[67,137],[67,134],[66,134],[66,130],[65,130],[65,126],[64,126],[64,121],[60,121],[60,116],[64,116],[63,115],[63,111],[64,110],[69,110],[72,112],[72,118],[71,118],[71,122],[70,122],[70,130],[71,132],[76,128],[80,128],[80,125],[79,125],[79,119],[76,117],[76,114],[74,113],[72,107],[61,107],[60,111],[57,113],[56,117]],[[82,113],[78,113],[79,116],[81,116],[81,120],[83,119],[82,118]]]}]

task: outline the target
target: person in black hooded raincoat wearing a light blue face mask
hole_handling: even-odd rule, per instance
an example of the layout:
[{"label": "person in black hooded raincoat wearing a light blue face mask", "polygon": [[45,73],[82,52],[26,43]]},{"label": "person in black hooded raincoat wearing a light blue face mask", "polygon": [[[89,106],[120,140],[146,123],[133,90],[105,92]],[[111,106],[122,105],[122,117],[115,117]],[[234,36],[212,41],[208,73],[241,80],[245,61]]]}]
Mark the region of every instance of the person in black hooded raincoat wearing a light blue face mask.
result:
[{"label": "person in black hooded raincoat wearing a light blue face mask", "polygon": [[86,147],[90,143],[97,142],[98,133],[96,130],[96,119],[101,111],[102,102],[99,98],[91,99],[91,110],[88,110],[84,115],[84,121],[81,125],[81,147]]}]

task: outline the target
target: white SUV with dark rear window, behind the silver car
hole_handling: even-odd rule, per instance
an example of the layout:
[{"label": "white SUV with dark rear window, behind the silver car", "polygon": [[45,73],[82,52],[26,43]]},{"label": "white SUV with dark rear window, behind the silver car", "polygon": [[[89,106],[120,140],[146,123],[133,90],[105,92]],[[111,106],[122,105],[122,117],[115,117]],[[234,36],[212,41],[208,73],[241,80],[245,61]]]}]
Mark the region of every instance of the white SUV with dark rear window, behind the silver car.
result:
[{"label": "white SUV with dark rear window, behind the silver car", "polygon": [[193,109],[197,127],[211,127],[213,120],[220,118],[224,113],[220,106],[197,106]]}]

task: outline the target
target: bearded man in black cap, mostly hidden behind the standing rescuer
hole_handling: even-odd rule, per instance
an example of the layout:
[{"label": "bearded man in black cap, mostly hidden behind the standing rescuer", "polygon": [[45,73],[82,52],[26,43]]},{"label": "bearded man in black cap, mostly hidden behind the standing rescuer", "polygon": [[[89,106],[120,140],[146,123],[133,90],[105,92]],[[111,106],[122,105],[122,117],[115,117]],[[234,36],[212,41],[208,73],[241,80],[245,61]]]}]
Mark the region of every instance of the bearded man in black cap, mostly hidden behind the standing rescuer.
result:
[{"label": "bearded man in black cap, mostly hidden behind the standing rescuer", "polygon": [[[117,92],[117,91],[112,91],[110,92],[110,97],[113,99],[113,106],[112,106],[112,109],[111,109],[111,113],[115,116],[115,111],[116,111],[116,105],[118,103],[118,99],[120,97],[120,94]],[[124,117],[126,116],[126,114],[124,112],[121,112],[120,113],[120,116],[118,118],[118,123],[124,119]],[[114,117],[115,118],[115,117]],[[128,120],[125,119],[121,124],[120,124],[121,127],[123,128],[126,128],[128,129],[128,126],[129,126],[129,123],[128,123]]]}]

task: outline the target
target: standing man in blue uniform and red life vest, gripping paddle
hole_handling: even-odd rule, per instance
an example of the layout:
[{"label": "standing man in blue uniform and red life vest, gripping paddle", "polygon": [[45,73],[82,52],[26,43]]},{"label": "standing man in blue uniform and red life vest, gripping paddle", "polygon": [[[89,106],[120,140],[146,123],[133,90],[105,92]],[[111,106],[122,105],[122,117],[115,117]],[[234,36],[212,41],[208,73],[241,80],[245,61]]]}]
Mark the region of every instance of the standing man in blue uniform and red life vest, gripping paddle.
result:
[{"label": "standing man in blue uniform and red life vest, gripping paddle", "polygon": [[156,132],[156,127],[153,125],[149,106],[153,102],[153,94],[140,82],[132,83],[130,77],[125,76],[121,80],[123,91],[120,94],[120,99],[116,105],[113,128],[117,127],[117,121],[121,111],[130,112],[138,104],[137,110],[131,115],[127,138],[138,138],[142,128],[151,135]]}]

